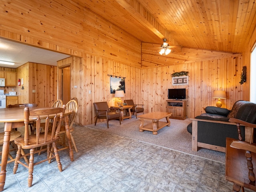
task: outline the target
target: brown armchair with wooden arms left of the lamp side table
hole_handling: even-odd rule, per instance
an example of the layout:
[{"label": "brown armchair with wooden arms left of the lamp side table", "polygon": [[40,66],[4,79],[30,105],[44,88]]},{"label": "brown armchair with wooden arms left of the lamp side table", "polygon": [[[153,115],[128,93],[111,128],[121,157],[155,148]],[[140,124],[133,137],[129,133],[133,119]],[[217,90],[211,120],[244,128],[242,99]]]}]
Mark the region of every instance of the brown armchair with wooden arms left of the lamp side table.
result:
[{"label": "brown armchair with wooden arms left of the lamp side table", "polygon": [[118,110],[118,112],[111,112],[107,102],[96,102],[93,103],[93,106],[96,113],[95,125],[98,119],[106,119],[107,125],[109,120],[119,119],[119,122],[121,124],[120,110]]}]

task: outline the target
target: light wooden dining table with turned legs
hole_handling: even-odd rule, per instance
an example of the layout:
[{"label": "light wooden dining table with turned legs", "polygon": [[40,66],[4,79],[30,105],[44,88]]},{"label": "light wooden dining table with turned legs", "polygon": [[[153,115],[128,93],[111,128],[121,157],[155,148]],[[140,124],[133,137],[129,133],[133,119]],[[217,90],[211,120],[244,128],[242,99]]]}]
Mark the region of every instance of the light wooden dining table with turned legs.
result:
[{"label": "light wooden dining table with turned legs", "polygon": [[[39,109],[39,108],[49,108],[49,107],[30,107],[30,110]],[[68,125],[68,115],[72,113],[72,110],[65,110],[64,114],[64,123],[66,128],[68,146],[69,146],[69,155],[70,160],[74,161],[74,155],[71,144],[71,136]],[[29,120],[33,121],[36,117],[30,117]],[[1,108],[0,109],[0,122],[4,123],[4,142],[2,146],[2,165],[0,172],[0,191],[4,190],[4,184],[6,180],[6,165],[8,160],[9,146],[10,146],[10,132],[12,128],[20,128],[24,126],[24,107],[17,108]]]}]

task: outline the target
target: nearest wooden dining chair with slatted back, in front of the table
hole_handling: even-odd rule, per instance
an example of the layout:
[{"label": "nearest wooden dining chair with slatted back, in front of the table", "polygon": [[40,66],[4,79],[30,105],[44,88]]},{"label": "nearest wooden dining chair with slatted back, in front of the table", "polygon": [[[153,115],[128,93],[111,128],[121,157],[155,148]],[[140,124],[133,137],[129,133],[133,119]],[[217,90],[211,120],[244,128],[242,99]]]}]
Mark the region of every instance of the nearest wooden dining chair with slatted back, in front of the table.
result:
[{"label": "nearest wooden dining chair with slatted back, in front of the table", "polygon": [[[63,108],[44,108],[31,111],[28,107],[24,108],[25,132],[24,137],[19,137],[14,140],[14,143],[18,146],[18,151],[14,162],[13,173],[16,174],[19,164],[28,168],[28,187],[32,186],[34,165],[40,164],[47,160],[48,163],[50,163],[51,159],[55,158],[58,164],[58,168],[60,172],[62,172],[62,165],[60,163],[60,156],[58,154],[56,142],[59,139],[60,126],[62,120],[64,119],[63,117],[65,109],[65,105],[63,105]],[[28,124],[30,122],[29,119],[32,117],[36,117],[36,134],[29,134]],[[45,119],[45,127],[44,132],[40,133],[40,123],[42,119]],[[50,119],[53,119],[51,129],[49,129]],[[51,145],[54,149],[54,152],[51,152]],[[40,148],[41,146],[47,146],[47,158],[38,162],[34,162],[34,154],[41,151],[36,149]],[[29,153],[22,155],[22,149],[29,149]],[[20,161],[20,158],[29,155],[30,158],[28,165]]]}]

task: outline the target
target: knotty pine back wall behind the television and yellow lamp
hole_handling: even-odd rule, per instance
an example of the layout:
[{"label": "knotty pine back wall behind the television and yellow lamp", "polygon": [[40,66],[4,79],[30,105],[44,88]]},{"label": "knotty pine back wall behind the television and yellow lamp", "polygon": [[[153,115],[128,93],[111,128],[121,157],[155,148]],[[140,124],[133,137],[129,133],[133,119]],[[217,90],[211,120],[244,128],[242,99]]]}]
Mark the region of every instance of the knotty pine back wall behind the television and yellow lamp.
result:
[{"label": "knotty pine back wall behind the television and yellow lamp", "polygon": [[[142,70],[142,97],[146,112],[165,111],[168,88],[186,88],[187,116],[194,118],[204,113],[206,106],[216,106],[212,98],[214,90],[224,90],[227,99],[222,99],[222,108],[231,109],[237,100],[249,100],[249,92],[240,85],[242,57],[224,58],[191,64],[150,68]],[[172,86],[174,72],[188,71],[187,86]]]}]

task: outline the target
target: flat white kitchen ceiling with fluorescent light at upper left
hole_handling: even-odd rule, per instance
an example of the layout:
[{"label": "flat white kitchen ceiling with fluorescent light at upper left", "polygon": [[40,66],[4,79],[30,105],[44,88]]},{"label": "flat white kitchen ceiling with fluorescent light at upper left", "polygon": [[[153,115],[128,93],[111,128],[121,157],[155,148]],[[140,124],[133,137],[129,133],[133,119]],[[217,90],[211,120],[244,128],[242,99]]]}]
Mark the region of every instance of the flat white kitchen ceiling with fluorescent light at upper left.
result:
[{"label": "flat white kitchen ceiling with fluorescent light at upper left", "polygon": [[0,64],[0,67],[18,68],[27,62],[57,66],[57,61],[70,55],[28,46],[0,38],[0,60],[14,62],[14,65]]}]

